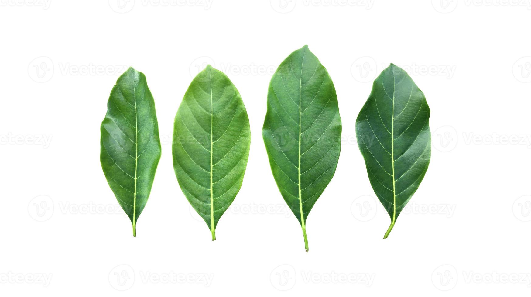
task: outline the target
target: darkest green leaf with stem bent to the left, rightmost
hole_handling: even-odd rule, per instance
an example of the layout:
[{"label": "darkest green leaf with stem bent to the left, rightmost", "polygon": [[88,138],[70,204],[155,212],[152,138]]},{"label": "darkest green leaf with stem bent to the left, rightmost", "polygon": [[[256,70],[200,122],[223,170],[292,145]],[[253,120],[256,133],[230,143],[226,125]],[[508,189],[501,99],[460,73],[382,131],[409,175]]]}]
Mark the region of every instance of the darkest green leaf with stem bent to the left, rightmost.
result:
[{"label": "darkest green leaf with stem bent to the left, rightmost", "polygon": [[413,79],[391,64],[374,80],[356,119],[369,181],[395,226],[430,164],[430,107]]}]

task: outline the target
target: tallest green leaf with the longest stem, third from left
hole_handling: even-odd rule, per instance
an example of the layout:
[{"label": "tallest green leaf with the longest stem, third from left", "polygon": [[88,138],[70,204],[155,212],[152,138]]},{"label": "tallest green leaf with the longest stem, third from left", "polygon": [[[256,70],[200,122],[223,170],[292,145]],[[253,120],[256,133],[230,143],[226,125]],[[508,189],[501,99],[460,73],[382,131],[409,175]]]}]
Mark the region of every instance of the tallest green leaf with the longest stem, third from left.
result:
[{"label": "tallest green leaf with the longest stem, third from left", "polygon": [[341,118],[328,71],[307,46],[289,55],[269,84],[263,139],[277,186],[301,223],[336,172]]}]

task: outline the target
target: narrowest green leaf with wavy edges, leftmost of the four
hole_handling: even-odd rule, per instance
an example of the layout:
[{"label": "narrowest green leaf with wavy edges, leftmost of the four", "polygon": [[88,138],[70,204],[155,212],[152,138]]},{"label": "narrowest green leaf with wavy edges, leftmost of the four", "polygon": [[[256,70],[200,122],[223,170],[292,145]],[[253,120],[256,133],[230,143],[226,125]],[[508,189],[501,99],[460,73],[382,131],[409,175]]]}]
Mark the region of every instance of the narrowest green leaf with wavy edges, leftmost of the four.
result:
[{"label": "narrowest green leaf with wavy edges, leftmost of the four", "polygon": [[143,73],[127,69],[110,91],[101,122],[101,168],[133,223],[148,202],[160,159],[155,102]]}]

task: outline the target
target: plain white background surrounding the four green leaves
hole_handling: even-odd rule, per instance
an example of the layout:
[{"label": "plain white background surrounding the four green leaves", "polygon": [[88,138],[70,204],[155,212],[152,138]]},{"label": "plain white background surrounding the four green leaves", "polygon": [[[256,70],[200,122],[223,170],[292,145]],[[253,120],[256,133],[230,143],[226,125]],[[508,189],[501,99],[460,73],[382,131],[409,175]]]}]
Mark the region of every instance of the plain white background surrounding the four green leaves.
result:
[{"label": "plain white background surrounding the four green leaves", "polygon": [[[0,0],[1,295],[529,295],[527,0],[120,1]],[[335,83],[343,131],[309,253],[261,136],[271,75],[304,44]],[[433,149],[383,240],[390,219],[355,119],[390,62],[426,95]],[[171,154],[178,104],[207,63],[239,89],[252,132],[213,242]],[[136,238],[99,161],[109,92],[129,66],[147,77],[162,142]]]}]

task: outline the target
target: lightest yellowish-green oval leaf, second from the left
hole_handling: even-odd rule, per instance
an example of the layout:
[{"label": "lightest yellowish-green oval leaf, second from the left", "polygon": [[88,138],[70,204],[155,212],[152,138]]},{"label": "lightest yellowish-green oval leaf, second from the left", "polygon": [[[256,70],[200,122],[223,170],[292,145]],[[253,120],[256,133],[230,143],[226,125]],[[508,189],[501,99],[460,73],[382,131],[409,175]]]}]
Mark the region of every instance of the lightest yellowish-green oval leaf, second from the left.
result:
[{"label": "lightest yellowish-green oval leaf, second from the left", "polygon": [[208,65],[192,80],[177,110],[173,167],[212,240],[219,218],[242,186],[250,145],[242,97],[224,73]]}]

